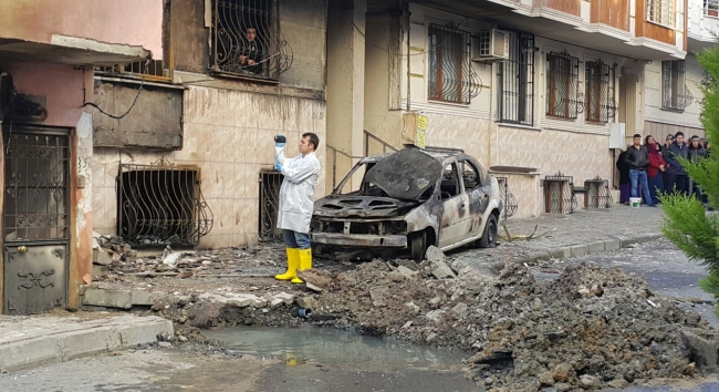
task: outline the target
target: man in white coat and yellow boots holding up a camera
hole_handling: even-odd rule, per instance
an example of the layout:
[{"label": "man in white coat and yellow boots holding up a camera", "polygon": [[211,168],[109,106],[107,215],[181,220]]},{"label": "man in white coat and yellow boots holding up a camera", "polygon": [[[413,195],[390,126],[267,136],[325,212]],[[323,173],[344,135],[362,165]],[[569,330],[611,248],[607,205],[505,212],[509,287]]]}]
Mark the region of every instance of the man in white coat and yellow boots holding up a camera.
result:
[{"label": "man in white coat and yellow boots holding up a camera", "polygon": [[286,246],[288,270],[274,276],[278,280],[302,283],[298,270],[312,269],[312,248],[310,244],[310,220],[314,210],[314,187],[320,176],[320,161],[314,155],[320,137],[305,133],[300,141],[300,155],[285,158],[285,138],[274,137],[274,168],[284,175],[280,188],[278,228]]}]

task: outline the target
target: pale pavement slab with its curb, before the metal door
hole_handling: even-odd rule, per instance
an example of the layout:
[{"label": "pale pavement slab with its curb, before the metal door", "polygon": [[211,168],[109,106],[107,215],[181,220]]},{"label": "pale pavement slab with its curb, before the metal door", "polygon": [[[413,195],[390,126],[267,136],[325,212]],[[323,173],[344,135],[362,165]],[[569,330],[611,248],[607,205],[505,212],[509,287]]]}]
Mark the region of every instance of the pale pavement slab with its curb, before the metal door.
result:
[{"label": "pale pavement slab with its curb, before the metal door", "polygon": [[154,343],[173,334],[160,317],[0,317],[0,370],[15,371]]}]

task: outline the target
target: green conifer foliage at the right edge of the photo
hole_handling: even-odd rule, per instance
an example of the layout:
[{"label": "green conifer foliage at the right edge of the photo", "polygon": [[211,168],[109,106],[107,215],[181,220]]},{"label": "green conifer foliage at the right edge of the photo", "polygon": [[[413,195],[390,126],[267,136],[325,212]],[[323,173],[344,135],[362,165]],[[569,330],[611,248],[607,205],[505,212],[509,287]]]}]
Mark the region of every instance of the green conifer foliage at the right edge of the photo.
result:
[{"label": "green conifer foliage at the right edge of the photo", "polygon": [[[707,141],[719,143],[719,47],[706,49],[697,60],[708,78],[701,85],[704,93],[701,123]],[[719,145],[712,145],[709,156],[698,164],[682,161],[689,177],[707,195],[711,207],[719,207]],[[694,196],[684,196],[667,189],[661,197],[665,220],[664,235],[691,260],[707,266],[709,276],[699,283],[704,290],[719,298],[719,217],[707,212]]]}]

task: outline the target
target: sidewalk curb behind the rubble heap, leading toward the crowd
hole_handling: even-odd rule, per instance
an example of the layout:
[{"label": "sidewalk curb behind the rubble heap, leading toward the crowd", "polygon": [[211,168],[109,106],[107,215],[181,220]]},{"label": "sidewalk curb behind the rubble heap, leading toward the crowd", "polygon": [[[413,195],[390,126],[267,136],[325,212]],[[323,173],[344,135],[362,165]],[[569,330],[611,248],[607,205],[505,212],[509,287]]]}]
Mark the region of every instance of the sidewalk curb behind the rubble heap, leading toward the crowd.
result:
[{"label": "sidewalk curb behind the rubble heap, leading toward the crowd", "polygon": [[596,241],[590,244],[580,244],[580,245],[571,245],[571,246],[552,248],[546,250],[536,250],[530,252],[529,255],[527,255],[527,257],[523,257],[520,261],[534,262],[539,260],[549,261],[551,259],[562,260],[570,257],[598,255],[607,251],[619,250],[622,248],[628,248],[629,246],[636,244],[649,243],[659,238],[664,238],[664,235],[660,233],[652,233],[648,235],[631,237],[631,238],[606,239],[603,241]]}]

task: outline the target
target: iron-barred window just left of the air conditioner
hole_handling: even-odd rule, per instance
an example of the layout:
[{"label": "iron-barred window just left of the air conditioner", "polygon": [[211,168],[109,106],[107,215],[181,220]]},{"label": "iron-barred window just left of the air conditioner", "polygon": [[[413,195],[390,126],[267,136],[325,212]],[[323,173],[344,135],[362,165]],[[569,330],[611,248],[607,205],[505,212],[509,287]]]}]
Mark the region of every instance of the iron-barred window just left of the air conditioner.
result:
[{"label": "iron-barred window just left of the air conditioner", "polygon": [[429,25],[429,99],[469,104],[479,95],[479,76],[469,55],[470,34],[451,27]]}]

